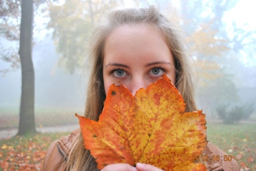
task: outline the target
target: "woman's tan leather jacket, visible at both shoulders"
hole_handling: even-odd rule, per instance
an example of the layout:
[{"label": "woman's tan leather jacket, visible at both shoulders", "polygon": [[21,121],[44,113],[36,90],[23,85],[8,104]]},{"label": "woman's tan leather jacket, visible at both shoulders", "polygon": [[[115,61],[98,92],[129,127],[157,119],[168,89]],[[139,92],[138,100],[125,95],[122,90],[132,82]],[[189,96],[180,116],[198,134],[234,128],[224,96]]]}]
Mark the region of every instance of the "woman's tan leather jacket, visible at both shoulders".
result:
[{"label": "woman's tan leather jacket, visible at both shoulders", "polygon": [[[77,129],[70,135],[63,136],[60,140],[54,141],[46,152],[41,171],[65,170],[66,165],[62,165],[62,163],[68,158],[71,143],[79,133],[80,129]],[[239,170],[236,160],[232,159],[232,161],[221,161],[220,159],[220,161],[217,162],[213,160],[213,155],[219,155],[223,158],[223,156],[227,154],[212,143],[208,142],[204,153],[204,156],[208,157],[208,161],[205,162],[207,170]]]}]

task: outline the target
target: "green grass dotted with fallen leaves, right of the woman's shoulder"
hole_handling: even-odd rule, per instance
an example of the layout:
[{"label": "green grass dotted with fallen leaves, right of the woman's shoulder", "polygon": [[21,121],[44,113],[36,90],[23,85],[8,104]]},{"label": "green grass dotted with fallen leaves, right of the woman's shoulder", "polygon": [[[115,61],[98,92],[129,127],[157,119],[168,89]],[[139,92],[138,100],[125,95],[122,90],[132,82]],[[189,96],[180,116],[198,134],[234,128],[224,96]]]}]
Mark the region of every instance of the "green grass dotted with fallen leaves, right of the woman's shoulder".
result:
[{"label": "green grass dotted with fallen leaves, right of the woman's shoulder", "polygon": [[237,160],[239,167],[256,170],[256,124],[207,123],[207,140]]}]

